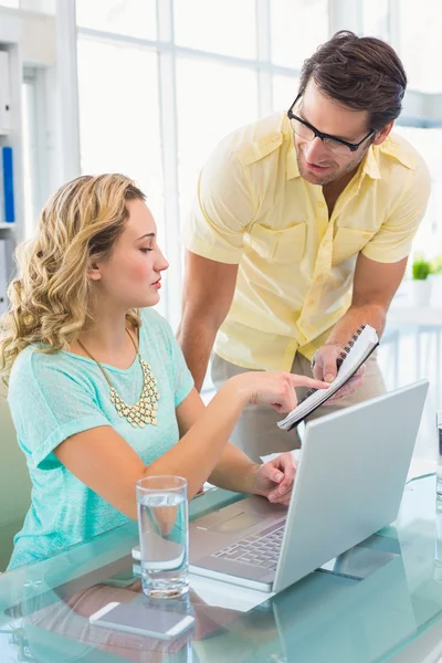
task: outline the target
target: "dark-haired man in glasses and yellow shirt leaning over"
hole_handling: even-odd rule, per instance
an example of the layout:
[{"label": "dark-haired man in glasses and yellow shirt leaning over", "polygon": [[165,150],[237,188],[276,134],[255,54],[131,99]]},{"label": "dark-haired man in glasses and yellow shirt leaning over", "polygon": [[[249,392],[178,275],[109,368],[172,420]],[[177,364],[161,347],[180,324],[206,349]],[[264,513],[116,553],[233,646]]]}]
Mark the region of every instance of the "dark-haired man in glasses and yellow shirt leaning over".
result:
[{"label": "dark-haired man in glasses and yellow shirt leaning over", "polygon": [[[338,32],[304,63],[288,113],[214,150],[183,236],[178,337],[198,388],[214,341],[219,387],[250,369],[312,375],[313,359],[332,381],[361,324],[382,334],[430,194],[421,157],[390,135],[406,86],[387,43]],[[370,358],[335,407],[383,390]],[[293,449],[277,419],[250,407],[233,442],[255,460]]]}]

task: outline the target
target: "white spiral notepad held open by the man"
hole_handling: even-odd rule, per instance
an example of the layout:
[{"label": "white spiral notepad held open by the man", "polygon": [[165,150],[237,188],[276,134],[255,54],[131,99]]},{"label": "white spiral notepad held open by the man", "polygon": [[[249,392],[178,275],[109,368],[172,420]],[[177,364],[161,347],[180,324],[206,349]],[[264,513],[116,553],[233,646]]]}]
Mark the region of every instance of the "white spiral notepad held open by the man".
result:
[{"label": "white spiral notepad held open by the man", "polygon": [[358,370],[373,349],[379,345],[376,329],[370,325],[362,325],[355,332],[337,361],[338,373],[328,389],[311,389],[296,408],[285,419],[278,421],[277,425],[290,431],[305,419],[311,412],[325,403],[347,380]]}]

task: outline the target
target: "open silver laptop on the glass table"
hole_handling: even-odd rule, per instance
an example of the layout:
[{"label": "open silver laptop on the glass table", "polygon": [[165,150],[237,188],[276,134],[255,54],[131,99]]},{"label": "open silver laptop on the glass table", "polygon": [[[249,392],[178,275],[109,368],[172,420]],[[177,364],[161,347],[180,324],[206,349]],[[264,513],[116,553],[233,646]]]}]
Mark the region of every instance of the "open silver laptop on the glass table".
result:
[{"label": "open silver laptop on the glass table", "polygon": [[252,496],[190,524],[190,571],[278,592],[399,511],[428,380],[306,424],[290,506]]}]

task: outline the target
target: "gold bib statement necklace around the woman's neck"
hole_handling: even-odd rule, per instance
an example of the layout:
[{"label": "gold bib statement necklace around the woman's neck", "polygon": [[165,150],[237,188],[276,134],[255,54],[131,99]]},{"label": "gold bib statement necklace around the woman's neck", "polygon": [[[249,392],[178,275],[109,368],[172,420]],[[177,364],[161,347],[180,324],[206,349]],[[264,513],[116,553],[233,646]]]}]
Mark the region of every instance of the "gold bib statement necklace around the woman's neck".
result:
[{"label": "gold bib statement necklace around the woman's neck", "polygon": [[139,425],[139,428],[145,428],[146,423],[151,423],[152,425],[157,425],[157,410],[158,410],[158,399],[159,399],[159,393],[157,390],[157,380],[151,373],[150,366],[147,364],[147,361],[145,361],[143,359],[141,355],[139,354],[138,348],[135,345],[135,341],[134,341],[130,333],[128,332],[128,329],[126,329],[126,332],[127,332],[131,343],[134,344],[135,351],[137,352],[138,361],[141,366],[141,370],[143,370],[143,391],[141,391],[141,396],[139,397],[138,402],[136,402],[134,406],[128,406],[118,396],[118,393],[116,392],[116,390],[113,387],[113,383],[110,382],[108,375],[104,370],[103,366],[99,364],[99,361],[97,361],[95,359],[95,357],[93,357],[91,355],[91,352],[87,350],[87,348],[84,347],[82,341],[77,340],[77,344],[80,345],[81,348],[83,348],[83,350],[86,352],[86,355],[88,357],[91,357],[91,359],[93,361],[95,361],[95,364],[98,366],[99,370],[102,371],[103,376],[105,377],[106,382],[108,383],[108,386],[110,388],[110,402],[114,403],[115,409],[118,412],[119,417],[127,419],[127,421],[129,423],[131,423],[131,425],[134,428],[137,428],[137,425]]}]

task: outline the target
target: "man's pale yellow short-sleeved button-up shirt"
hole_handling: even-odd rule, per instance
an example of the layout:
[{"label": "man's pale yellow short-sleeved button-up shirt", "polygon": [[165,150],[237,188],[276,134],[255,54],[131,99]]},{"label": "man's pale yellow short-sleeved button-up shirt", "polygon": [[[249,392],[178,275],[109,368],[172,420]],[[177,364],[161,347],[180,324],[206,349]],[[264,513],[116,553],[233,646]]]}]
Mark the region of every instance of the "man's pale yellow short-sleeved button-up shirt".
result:
[{"label": "man's pale yellow short-sleeved button-up shirt", "polygon": [[429,194],[424,161],[390,135],[370,147],[329,218],[323,188],[299,176],[285,114],[228,136],[201,171],[183,230],[193,253],[239,264],[215,352],[267,370],[290,370],[296,351],[311,359],[350,305],[358,253],[406,257]]}]

